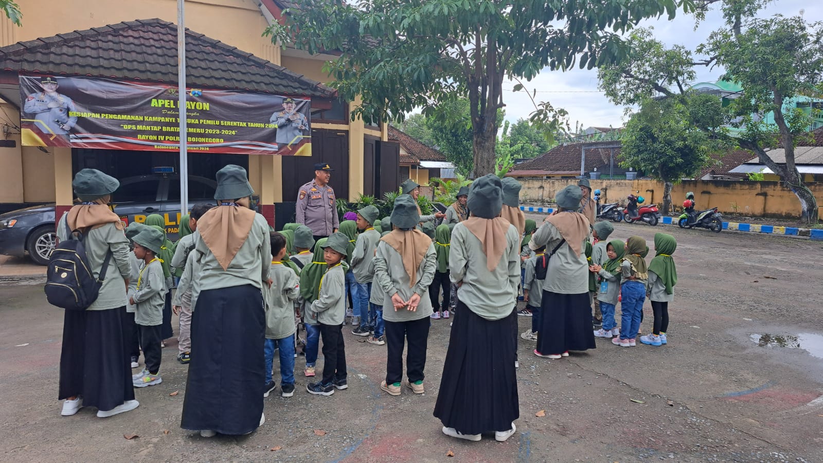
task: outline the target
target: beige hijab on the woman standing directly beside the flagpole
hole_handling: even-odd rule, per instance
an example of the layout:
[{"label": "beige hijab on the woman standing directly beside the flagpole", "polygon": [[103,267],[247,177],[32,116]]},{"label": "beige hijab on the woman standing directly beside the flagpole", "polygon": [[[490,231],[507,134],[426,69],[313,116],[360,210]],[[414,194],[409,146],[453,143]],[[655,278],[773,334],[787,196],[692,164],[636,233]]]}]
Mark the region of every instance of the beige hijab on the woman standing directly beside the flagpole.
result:
[{"label": "beige hijab on the woman standing directly beside the flagpole", "polygon": [[[226,201],[230,200],[221,200]],[[246,242],[254,222],[255,213],[249,209],[249,198],[238,199],[236,203],[238,206],[212,208],[198,220],[200,236],[224,270]]]}]

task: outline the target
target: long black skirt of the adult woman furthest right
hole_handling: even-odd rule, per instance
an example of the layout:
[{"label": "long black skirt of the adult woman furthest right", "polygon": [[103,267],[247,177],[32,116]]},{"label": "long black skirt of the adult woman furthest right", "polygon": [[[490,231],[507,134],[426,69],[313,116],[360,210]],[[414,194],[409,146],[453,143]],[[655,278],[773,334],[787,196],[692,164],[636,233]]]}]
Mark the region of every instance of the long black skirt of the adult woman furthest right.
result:
[{"label": "long black skirt of the adult woman furthest right", "polygon": [[537,352],[564,353],[567,350],[596,348],[592,328],[592,307],[588,292],[560,294],[543,292]]}]

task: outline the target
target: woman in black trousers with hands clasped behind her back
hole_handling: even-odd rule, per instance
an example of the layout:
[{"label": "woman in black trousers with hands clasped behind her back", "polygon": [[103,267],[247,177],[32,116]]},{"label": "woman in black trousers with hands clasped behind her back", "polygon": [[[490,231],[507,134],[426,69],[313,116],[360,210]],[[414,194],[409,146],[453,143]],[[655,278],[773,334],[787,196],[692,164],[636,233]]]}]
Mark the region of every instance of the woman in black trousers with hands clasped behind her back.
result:
[{"label": "woman in black trousers with hands clasped behind her back", "polygon": [[423,394],[425,351],[429,339],[431,302],[424,297],[435,277],[435,246],[429,236],[416,230],[420,223],[411,196],[394,202],[392,225],[380,238],[374,255],[374,278],[383,288],[383,320],[387,344],[386,378],[380,389],[400,395],[403,348],[408,341],[406,386]]}]

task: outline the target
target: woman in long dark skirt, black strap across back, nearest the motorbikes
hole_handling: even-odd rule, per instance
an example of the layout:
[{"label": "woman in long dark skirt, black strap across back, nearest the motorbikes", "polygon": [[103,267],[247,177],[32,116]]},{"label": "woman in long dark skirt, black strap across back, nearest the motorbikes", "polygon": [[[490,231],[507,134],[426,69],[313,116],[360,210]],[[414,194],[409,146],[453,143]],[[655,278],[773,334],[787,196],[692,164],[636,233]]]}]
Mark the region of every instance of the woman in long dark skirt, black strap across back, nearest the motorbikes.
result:
[{"label": "woman in long dark skirt, black strap across back, nearest the motorbikes", "polygon": [[586,242],[591,227],[577,210],[583,194],[569,185],[560,190],[558,212],[532,236],[532,249],[546,246],[548,269],[543,283],[541,328],[537,334],[538,357],[567,357],[570,350],[595,348],[592,310],[588,302]]}]

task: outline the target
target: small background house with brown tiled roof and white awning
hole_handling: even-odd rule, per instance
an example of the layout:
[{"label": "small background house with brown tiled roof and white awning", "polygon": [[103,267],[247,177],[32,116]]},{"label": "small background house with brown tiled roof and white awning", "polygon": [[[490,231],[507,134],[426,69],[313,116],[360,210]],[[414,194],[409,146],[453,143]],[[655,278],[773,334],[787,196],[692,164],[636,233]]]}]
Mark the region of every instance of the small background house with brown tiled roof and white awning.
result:
[{"label": "small background house with brown tiled roof and white awning", "polygon": [[412,179],[420,185],[429,185],[429,179],[453,179],[456,167],[442,152],[412,138],[408,133],[388,126],[388,140],[400,143],[400,181]]}]

